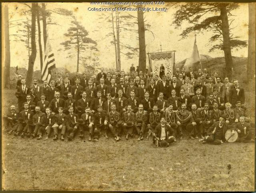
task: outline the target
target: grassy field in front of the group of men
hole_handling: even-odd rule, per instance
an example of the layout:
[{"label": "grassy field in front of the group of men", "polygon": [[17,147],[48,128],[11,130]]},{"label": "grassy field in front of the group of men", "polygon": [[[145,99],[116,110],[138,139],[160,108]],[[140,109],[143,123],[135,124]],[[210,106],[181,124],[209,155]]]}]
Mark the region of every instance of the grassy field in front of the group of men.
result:
[{"label": "grassy field in front of the group of men", "polygon": [[[3,110],[13,93],[4,92]],[[4,190],[254,191],[254,143],[185,138],[157,148],[151,138],[38,141],[3,129],[2,148]]]}]

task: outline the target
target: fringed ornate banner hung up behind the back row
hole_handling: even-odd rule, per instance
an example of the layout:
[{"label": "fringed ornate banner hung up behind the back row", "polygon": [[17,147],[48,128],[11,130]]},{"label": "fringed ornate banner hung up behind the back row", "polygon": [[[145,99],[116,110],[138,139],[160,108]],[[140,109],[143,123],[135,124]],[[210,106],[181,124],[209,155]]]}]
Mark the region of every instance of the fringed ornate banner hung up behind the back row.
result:
[{"label": "fringed ornate banner hung up behind the back row", "polygon": [[175,65],[175,52],[160,52],[160,53],[149,53],[149,64],[151,71],[154,75],[160,74],[160,66],[163,64],[164,66],[164,74],[166,75],[168,72],[172,78],[173,68]]}]

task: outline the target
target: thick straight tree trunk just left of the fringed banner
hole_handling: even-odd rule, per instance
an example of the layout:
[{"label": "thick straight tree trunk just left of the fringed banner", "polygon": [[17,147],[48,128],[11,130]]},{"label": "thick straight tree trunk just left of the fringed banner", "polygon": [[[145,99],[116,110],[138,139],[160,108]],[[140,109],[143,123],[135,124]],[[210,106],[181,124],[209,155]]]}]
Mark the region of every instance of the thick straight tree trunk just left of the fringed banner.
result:
[{"label": "thick straight tree trunk just left of the fringed banner", "polygon": [[145,27],[144,27],[144,13],[139,8],[141,5],[137,6],[138,11],[138,34],[139,34],[139,70],[142,72],[146,69],[146,43],[145,43]]}]

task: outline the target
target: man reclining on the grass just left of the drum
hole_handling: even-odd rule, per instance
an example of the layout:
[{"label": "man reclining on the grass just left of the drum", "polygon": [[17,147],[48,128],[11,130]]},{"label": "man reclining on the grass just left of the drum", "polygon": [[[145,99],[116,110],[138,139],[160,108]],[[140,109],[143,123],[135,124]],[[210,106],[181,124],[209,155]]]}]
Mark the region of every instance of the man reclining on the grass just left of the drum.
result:
[{"label": "man reclining on the grass just left of the drum", "polygon": [[225,132],[227,130],[227,125],[225,123],[225,118],[220,117],[219,121],[216,121],[209,127],[207,135],[204,139],[200,139],[202,143],[210,143],[214,145],[220,145],[225,139]]}]

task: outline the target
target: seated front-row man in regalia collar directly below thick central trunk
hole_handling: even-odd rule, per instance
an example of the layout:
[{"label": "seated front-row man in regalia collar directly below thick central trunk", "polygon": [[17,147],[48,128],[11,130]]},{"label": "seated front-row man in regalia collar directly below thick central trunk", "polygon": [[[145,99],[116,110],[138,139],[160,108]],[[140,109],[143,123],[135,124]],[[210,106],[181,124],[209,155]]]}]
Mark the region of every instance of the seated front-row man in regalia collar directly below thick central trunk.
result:
[{"label": "seated front-row man in regalia collar directly below thick central trunk", "polygon": [[146,130],[146,123],[148,122],[148,113],[147,111],[144,111],[142,104],[139,104],[138,109],[138,112],[135,113],[135,128],[137,133],[140,135],[138,139],[143,139],[144,131]]}]

